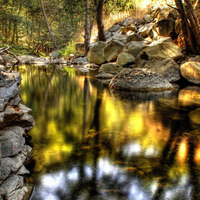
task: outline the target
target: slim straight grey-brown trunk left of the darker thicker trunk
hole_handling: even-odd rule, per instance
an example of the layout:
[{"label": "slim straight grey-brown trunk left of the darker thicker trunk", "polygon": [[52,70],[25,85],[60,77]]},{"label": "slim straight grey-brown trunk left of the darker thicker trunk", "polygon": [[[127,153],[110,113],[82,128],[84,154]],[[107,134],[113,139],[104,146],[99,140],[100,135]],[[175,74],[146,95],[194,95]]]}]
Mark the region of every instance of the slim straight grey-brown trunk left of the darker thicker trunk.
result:
[{"label": "slim straight grey-brown trunk left of the darker thicker trunk", "polygon": [[90,5],[89,0],[85,0],[85,55],[89,51],[90,45]]}]

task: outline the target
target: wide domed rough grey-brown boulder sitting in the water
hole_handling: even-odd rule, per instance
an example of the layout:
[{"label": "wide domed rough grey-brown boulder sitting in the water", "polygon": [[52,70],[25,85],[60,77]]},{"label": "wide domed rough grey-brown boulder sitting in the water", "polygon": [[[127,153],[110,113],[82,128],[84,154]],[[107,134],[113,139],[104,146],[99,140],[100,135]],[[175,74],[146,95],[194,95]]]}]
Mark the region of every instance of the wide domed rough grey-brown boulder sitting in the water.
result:
[{"label": "wide domed rough grey-brown boulder sitting in the water", "polygon": [[171,90],[173,86],[161,74],[149,69],[135,68],[117,74],[109,87],[114,90],[162,91]]}]

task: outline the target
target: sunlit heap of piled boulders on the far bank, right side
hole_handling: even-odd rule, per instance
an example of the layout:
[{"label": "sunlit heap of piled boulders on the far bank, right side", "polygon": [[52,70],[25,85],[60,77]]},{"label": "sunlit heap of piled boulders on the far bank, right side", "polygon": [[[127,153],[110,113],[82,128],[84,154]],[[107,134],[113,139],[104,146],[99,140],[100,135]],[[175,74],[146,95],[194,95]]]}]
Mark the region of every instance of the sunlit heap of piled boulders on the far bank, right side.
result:
[{"label": "sunlit heap of piled boulders on the far bank, right side", "polygon": [[[177,42],[180,31],[177,11],[158,7],[150,10],[143,19],[129,17],[114,24],[106,30],[105,42],[97,40],[90,45],[87,60],[99,66],[96,78],[113,90],[171,90],[172,84],[181,78],[200,84],[200,59],[190,58],[190,62],[181,65],[176,62],[184,60],[181,45]],[[154,76],[144,77],[149,74]],[[144,79],[136,86],[135,81],[141,77]],[[162,84],[154,87],[155,81]]]}]

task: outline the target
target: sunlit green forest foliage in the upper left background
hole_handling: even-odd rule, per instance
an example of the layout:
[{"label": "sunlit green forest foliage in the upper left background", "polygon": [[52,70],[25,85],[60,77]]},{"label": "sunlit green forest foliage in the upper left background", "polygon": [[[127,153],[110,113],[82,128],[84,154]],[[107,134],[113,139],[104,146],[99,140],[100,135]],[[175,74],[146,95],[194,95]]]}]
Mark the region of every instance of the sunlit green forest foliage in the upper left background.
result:
[{"label": "sunlit green forest foliage in the upper left background", "polygon": [[[56,43],[63,48],[62,54],[74,53],[74,40],[84,30],[85,0],[44,0],[44,6]],[[91,0],[91,21],[95,8],[95,1]],[[134,0],[105,0],[104,8],[108,13],[133,9]],[[0,42],[29,48],[37,54],[53,51],[40,1],[0,0]]]}]

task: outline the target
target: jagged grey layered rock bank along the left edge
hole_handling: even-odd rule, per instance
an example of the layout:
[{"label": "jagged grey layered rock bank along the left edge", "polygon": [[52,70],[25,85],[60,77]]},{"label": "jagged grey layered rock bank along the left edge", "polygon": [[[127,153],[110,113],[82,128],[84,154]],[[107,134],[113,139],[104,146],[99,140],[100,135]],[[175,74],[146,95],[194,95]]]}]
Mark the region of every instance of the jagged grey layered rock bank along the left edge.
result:
[{"label": "jagged grey layered rock bank along the left edge", "polygon": [[31,109],[20,103],[20,82],[18,72],[9,73],[0,66],[0,199],[22,200],[28,191],[22,175],[29,173],[25,163],[32,148],[26,136],[35,122]]}]

